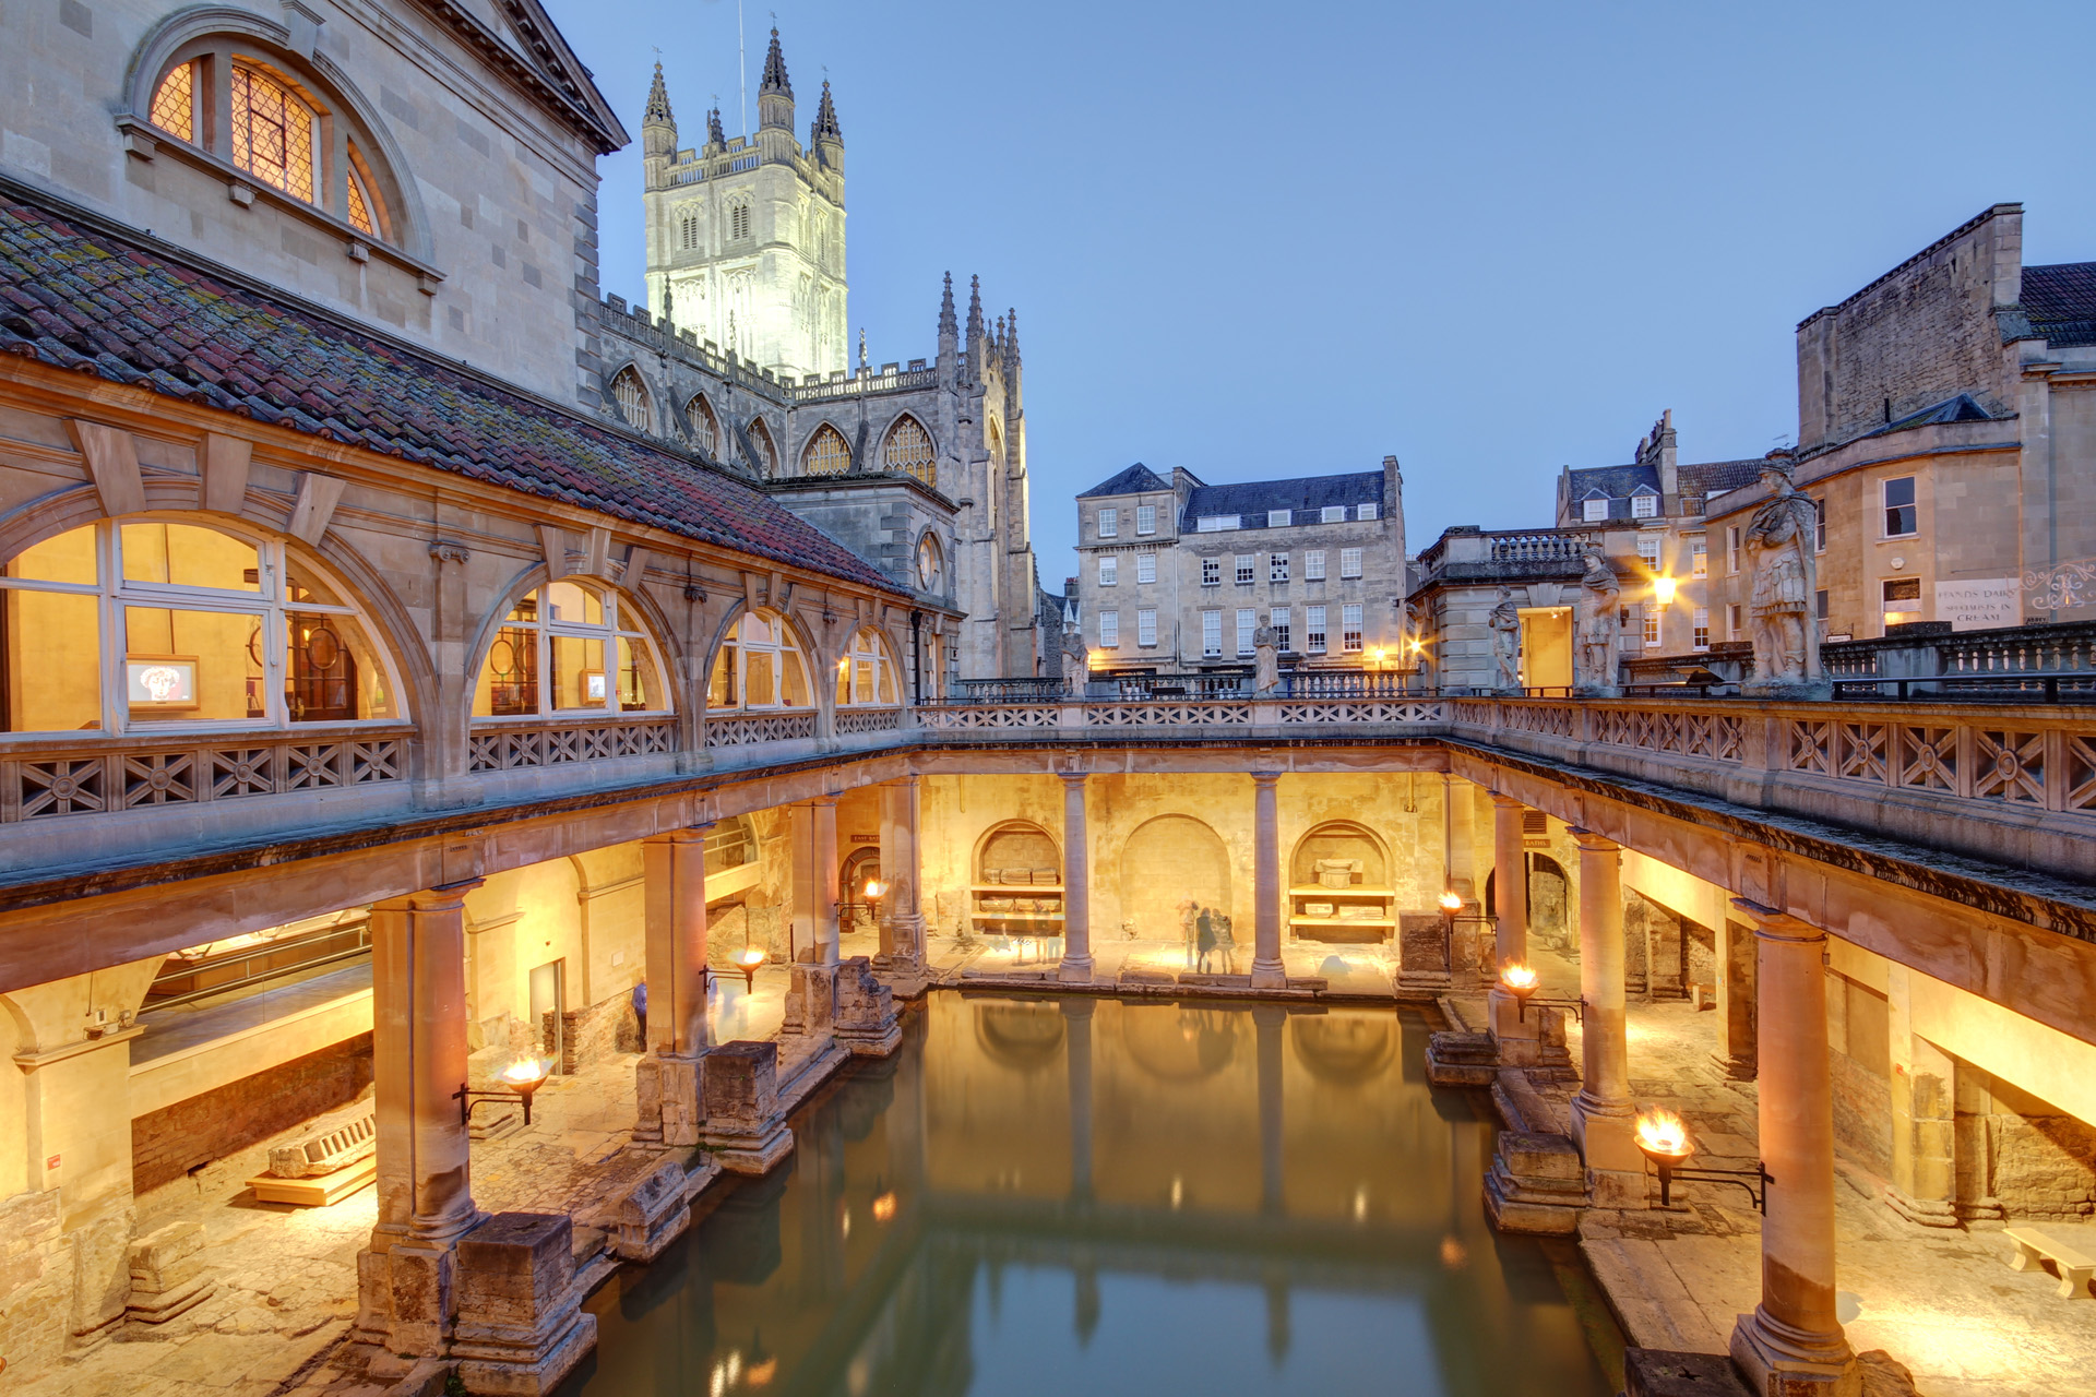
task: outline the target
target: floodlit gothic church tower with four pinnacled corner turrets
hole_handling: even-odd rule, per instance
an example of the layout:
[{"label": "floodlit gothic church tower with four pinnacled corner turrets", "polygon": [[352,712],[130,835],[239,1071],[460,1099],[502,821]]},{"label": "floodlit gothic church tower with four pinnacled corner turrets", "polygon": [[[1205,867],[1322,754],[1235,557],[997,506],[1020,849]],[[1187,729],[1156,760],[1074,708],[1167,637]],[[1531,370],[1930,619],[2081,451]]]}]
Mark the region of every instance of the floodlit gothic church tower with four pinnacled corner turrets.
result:
[{"label": "floodlit gothic church tower with four pinnacled corner turrets", "polygon": [[847,369],[845,134],[822,84],[803,147],[792,82],[771,31],[757,134],[729,140],[721,111],[706,142],[677,149],[662,65],[641,121],[648,306],[700,341],[801,379]]}]

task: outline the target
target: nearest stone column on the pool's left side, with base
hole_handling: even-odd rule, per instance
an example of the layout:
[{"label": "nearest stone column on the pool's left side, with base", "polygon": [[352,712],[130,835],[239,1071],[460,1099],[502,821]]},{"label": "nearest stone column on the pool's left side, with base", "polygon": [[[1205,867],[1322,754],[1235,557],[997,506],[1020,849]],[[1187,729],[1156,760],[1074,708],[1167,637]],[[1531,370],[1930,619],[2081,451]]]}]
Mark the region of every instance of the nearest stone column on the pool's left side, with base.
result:
[{"label": "nearest stone column on the pool's left side, with base", "polygon": [[480,880],[371,907],[377,1225],[356,1257],[358,1330],[392,1353],[442,1353],[457,1240],[480,1221],[457,1091],[465,1085],[465,894]]}]

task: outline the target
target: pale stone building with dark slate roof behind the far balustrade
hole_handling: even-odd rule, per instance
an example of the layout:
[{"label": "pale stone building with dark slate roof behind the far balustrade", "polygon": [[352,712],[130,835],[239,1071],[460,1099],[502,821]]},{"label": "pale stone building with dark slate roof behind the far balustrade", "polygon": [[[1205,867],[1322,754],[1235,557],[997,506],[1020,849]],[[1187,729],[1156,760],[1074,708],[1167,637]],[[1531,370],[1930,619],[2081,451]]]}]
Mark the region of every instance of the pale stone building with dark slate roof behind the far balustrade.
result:
[{"label": "pale stone building with dark slate roof behind the far balustrade", "polygon": [[1209,486],[1132,465],[1077,496],[1077,612],[1092,668],[1360,666],[1402,641],[1404,478]]}]

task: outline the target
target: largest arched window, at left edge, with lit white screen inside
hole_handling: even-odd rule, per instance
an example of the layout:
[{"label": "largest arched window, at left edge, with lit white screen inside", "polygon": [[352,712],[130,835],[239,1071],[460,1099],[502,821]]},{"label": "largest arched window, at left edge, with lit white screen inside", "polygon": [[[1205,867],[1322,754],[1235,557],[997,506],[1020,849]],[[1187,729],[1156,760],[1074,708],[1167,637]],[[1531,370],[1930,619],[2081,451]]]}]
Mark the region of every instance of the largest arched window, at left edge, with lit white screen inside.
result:
[{"label": "largest arched window, at left edge, with lit white screen inside", "polygon": [[0,568],[10,733],[390,720],[398,695],[348,591],[281,542],[134,517]]}]

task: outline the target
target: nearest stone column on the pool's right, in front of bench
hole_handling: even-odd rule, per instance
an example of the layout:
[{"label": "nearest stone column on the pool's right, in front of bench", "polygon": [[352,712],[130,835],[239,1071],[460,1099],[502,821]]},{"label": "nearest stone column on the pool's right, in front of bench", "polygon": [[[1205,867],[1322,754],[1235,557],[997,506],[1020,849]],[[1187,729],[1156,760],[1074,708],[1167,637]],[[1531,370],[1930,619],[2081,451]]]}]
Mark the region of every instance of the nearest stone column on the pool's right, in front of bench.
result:
[{"label": "nearest stone column on the pool's right, in front of bench", "polygon": [[1857,1391],[1834,1315],[1834,1072],[1826,932],[1735,899],[1754,922],[1761,991],[1761,1305],[1731,1330],[1731,1359],[1765,1397]]}]

